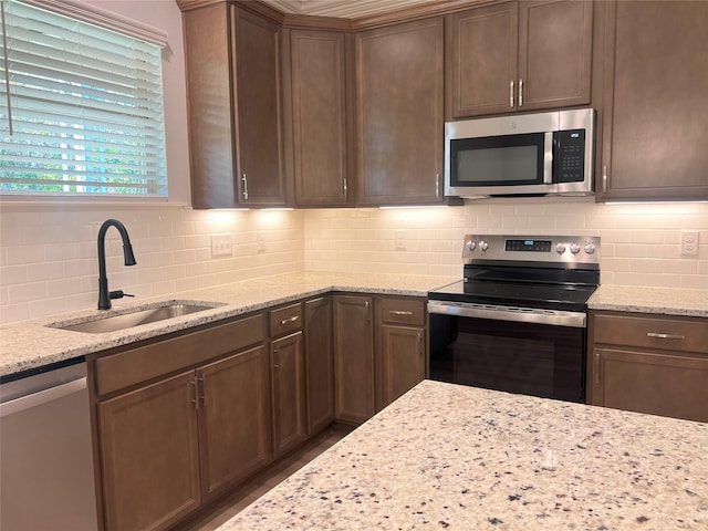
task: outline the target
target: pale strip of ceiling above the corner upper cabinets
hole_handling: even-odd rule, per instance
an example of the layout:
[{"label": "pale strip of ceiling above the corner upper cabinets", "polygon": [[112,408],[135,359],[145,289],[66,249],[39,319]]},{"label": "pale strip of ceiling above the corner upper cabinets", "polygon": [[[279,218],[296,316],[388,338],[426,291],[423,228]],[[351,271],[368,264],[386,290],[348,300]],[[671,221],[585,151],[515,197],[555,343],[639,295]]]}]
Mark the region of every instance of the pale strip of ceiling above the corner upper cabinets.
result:
[{"label": "pale strip of ceiling above the corner upper cabinets", "polygon": [[284,13],[358,19],[436,0],[263,0]]}]

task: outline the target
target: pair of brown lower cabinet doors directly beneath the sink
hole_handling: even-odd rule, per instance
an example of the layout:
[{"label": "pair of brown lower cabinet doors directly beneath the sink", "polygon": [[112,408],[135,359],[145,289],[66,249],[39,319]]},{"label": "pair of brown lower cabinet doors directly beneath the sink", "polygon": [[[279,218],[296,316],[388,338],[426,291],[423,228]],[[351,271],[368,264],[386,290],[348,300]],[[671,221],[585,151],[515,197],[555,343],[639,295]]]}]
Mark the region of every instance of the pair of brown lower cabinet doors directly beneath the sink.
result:
[{"label": "pair of brown lower cabinet doors directly beneath the sink", "polygon": [[97,405],[105,528],[167,529],[270,458],[266,348]]}]

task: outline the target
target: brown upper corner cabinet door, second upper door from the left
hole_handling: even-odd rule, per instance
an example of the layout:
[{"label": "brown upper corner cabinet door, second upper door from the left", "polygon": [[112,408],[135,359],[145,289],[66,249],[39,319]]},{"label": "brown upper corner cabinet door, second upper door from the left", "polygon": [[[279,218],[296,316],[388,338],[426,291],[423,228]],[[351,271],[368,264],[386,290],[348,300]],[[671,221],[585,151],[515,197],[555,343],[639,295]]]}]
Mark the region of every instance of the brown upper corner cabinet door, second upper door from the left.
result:
[{"label": "brown upper corner cabinet door, second upper door from the left", "polygon": [[292,30],[290,43],[295,205],[345,207],[350,204],[345,35]]}]

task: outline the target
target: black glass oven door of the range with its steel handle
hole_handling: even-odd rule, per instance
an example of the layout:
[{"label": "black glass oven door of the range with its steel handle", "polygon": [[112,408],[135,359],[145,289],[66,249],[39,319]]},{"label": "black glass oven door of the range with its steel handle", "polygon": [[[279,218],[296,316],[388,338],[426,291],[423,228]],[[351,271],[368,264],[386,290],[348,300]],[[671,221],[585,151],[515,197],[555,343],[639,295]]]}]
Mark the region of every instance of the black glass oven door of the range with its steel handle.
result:
[{"label": "black glass oven door of the range with its steel handle", "polygon": [[585,402],[584,313],[544,322],[543,311],[464,306],[428,304],[431,379]]}]

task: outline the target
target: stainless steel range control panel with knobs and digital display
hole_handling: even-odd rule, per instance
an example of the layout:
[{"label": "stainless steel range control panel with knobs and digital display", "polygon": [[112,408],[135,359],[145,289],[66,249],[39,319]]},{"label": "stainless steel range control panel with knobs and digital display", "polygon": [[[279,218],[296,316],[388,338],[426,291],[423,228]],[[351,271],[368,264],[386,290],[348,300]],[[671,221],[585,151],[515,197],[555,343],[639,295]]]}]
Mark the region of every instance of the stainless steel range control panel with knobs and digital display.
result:
[{"label": "stainless steel range control panel with knobs and digital display", "polygon": [[598,264],[600,237],[466,235],[462,263],[477,260]]}]

